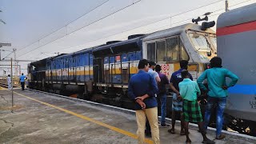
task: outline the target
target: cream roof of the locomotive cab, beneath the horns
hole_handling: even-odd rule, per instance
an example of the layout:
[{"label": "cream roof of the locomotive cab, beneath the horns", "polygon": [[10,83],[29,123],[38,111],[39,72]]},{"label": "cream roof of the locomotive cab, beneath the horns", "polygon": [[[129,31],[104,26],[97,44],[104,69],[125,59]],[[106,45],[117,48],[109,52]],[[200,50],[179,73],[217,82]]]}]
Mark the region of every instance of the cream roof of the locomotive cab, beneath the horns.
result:
[{"label": "cream roof of the locomotive cab, beneath the horns", "polygon": [[[154,32],[152,34],[148,34],[148,36],[143,38],[143,41],[150,41],[153,39],[170,37],[172,35],[178,35],[186,30],[202,31],[200,25],[194,24],[194,23],[187,23],[182,26],[175,26],[175,27],[171,27],[170,29],[160,30],[160,31]],[[211,29],[204,30],[204,31],[215,34],[214,30],[211,30]]]}]

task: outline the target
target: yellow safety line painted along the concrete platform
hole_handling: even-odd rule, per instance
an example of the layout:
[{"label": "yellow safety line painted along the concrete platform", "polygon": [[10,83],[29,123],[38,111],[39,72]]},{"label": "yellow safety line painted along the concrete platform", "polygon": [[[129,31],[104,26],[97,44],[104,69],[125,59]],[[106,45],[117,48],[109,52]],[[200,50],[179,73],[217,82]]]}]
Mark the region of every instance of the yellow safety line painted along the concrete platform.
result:
[{"label": "yellow safety line painted along the concrete platform", "polygon": [[[14,93],[15,93],[15,94],[18,94],[17,92],[14,92]],[[31,100],[33,100],[33,101],[35,101],[35,102],[42,103],[43,105],[50,106],[50,107],[53,107],[53,108],[58,109],[58,110],[62,110],[62,111],[64,111],[64,112],[66,112],[67,114],[72,114],[72,115],[74,115],[74,116],[76,116],[76,117],[78,117],[78,118],[85,119],[86,121],[94,122],[94,123],[96,123],[96,124],[98,124],[98,125],[100,125],[100,126],[104,126],[104,127],[108,128],[108,129],[110,129],[110,130],[114,130],[114,131],[116,131],[116,132],[118,132],[118,133],[127,135],[127,136],[129,136],[129,137],[131,137],[131,138],[138,139],[138,137],[137,137],[136,134],[130,133],[129,131],[119,129],[119,128],[114,127],[114,126],[110,126],[110,125],[108,125],[108,124],[106,124],[106,123],[103,123],[103,122],[99,122],[99,121],[97,121],[97,120],[94,120],[93,118],[88,118],[88,117],[86,117],[86,116],[84,116],[84,115],[82,115],[82,114],[74,113],[74,112],[72,112],[72,111],[70,111],[70,110],[66,110],[66,109],[63,109],[63,108],[61,108],[61,107],[54,106],[54,105],[51,105],[51,104],[46,103],[46,102],[39,101],[39,100],[34,99],[34,98],[30,98],[30,97],[28,97],[28,96],[26,96],[26,95],[23,95],[23,94],[18,94],[18,95],[20,95],[20,96],[22,96],[22,97],[25,97],[25,98],[28,98],[28,99],[31,99]],[[152,140],[147,139],[147,138],[145,138],[145,142],[146,142],[146,143],[150,143],[150,144],[153,143]]]}]

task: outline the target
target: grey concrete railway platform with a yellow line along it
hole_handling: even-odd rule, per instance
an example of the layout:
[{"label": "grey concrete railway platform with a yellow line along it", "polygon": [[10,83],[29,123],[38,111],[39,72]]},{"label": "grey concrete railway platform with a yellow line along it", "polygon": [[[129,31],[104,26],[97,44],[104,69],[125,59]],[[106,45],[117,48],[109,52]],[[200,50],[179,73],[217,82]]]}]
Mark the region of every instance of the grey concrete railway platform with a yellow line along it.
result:
[{"label": "grey concrete railway platform with a yellow line along it", "polygon": [[[160,129],[162,144],[185,143],[186,136]],[[64,98],[34,90],[14,88],[11,92],[0,87],[0,143],[137,143],[137,124],[133,110],[123,110],[95,102]],[[198,128],[190,125],[193,143],[201,143]],[[208,130],[214,139],[214,130]],[[242,134],[226,134],[216,143],[256,143],[256,138]],[[153,143],[146,138],[145,143]]]}]

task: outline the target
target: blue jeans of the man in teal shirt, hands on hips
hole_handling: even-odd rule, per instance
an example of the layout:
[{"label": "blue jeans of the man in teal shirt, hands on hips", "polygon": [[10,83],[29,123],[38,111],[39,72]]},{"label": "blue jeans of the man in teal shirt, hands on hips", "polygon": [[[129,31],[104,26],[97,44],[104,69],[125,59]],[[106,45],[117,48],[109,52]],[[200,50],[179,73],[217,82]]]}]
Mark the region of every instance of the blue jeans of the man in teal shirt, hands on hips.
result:
[{"label": "blue jeans of the man in teal shirt, hands on hips", "polygon": [[215,105],[217,105],[216,106],[216,109],[217,109],[216,137],[218,137],[220,134],[222,134],[223,113],[224,113],[224,109],[226,107],[226,97],[214,98],[214,97],[209,96],[207,98],[206,113],[205,113],[205,126],[204,126],[205,130],[207,130],[207,126],[210,121],[210,114]]}]

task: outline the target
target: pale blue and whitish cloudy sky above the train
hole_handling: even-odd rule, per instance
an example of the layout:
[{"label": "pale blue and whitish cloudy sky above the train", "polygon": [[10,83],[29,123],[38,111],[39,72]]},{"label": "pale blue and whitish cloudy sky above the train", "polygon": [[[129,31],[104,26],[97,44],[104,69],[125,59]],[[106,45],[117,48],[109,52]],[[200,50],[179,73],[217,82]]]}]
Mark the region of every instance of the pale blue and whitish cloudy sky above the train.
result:
[{"label": "pale blue and whitish cloudy sky above the train", "polygon": [[[254,2],[229,0],[229,9]],[[206,12],[213,12],[209,18],[216,21],[225,0],[0,0],[0,10],[6,22],[0,22],[0,42],[12,45],[0,48],[1,58],[17,49],[18,60],[40,60],[179,26]],[[27,63],[18,62],[25,74]],[[9,64],[0,61],[0,76],[10,71],[1,65]]]}]

